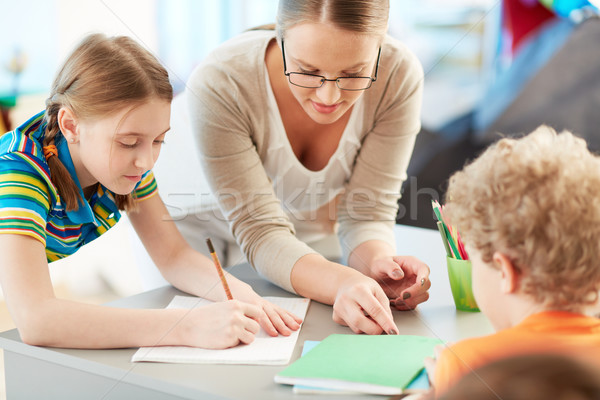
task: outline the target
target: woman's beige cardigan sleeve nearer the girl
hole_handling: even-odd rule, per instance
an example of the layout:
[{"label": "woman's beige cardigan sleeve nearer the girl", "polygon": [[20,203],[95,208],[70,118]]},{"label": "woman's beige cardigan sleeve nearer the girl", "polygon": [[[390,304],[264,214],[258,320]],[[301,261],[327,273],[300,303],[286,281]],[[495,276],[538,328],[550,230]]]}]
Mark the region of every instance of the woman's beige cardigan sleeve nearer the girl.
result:
[{"label": "woman's beige cardigan sleeve nearer the girl", "polygon": [[295,237],[257,152],[254,135],[264,135],[259,121],[265,113],[259,84],[264,76],[248,65],[237,68],[238,73],[248,70],[243,76],[229,73],[225,69],[232,64],[235,60],[208,62],[190,78],[193,135],[211,190],[248,261],[261,275],[294,292],[294,264],[316,252]]}]

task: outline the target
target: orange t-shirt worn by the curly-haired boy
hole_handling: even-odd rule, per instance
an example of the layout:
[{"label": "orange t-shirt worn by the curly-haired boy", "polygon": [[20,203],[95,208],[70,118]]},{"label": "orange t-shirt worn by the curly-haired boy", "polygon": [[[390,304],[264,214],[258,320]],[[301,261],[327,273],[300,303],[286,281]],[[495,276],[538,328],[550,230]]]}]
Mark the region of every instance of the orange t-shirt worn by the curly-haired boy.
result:
[{"label": "orange t-shirt worn by the curly-haired boy", "polygon": [[600,357],[600,319],[565,311],[530,315],[520,324],[492,335],[467,339],[446,348],[435,367],[436,395],[477,367],[501,358],[540,352],[594,353]]}]

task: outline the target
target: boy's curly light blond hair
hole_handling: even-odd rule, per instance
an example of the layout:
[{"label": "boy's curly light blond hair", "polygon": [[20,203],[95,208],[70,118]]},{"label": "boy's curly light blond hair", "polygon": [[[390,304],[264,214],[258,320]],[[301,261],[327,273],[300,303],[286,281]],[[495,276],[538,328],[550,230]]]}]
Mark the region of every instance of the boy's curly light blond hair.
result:
[{"label": "boy's curly light blond hair", "polygon": [[577,311],[600,289],[600,158],[570,132],[541,126],[502,139],[450,178],[447,217],[492,263],[520,270],[524,293]]}]

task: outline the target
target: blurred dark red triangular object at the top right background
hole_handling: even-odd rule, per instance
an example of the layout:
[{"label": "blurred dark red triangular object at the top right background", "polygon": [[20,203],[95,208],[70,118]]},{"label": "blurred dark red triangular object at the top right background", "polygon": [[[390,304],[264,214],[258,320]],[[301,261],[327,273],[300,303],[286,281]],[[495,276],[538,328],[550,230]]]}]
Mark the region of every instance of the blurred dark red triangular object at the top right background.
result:
[{"label": "blurred dark red triangular object at the top right background", "polygon": [[504,0],[503,7],[502,27],[512,36],[513,53],[531,32],[557,18],[538,1]]}]

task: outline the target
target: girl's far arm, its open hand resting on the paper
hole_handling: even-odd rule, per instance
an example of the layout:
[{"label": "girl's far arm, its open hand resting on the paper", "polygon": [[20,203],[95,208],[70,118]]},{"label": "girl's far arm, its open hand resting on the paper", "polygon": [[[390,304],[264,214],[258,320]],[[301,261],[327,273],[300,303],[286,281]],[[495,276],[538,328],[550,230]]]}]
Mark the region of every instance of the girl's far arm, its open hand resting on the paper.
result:
[{"label": "girl's far arm, its open hand resting on the paper", "polygon": [[[227,300],[213,261],[185,241],[158,195],[138,202],[138,210],[128,216],[167,281],[186,293],[213,301]],[[234,299],[263,309],[265,314],[259,321],[268,334],[287,336],[300,327],[300,318],[264,300],[247,283],[225,274]]]}]

